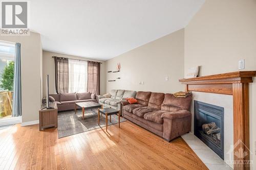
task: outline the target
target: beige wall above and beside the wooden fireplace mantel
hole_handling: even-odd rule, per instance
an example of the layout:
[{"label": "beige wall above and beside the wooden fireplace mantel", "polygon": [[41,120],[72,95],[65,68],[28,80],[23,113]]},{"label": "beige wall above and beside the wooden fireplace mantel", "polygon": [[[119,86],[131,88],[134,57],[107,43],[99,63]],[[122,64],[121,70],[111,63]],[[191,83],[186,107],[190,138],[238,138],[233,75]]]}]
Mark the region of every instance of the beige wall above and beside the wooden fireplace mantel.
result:
[{"label": "beige wall above and beside the wooden fireplace mantel", "polygon": [[[207,0],[185,28],[184,72],[197,65],[202,66],[200,76],[237,71],[240,59],[245,59],[245,70],[256,70],[256,1]],[[249,90],[250,150],[253,152],[255,79]],[[251,158],[256,162],[255,154],[251,154]]]}]

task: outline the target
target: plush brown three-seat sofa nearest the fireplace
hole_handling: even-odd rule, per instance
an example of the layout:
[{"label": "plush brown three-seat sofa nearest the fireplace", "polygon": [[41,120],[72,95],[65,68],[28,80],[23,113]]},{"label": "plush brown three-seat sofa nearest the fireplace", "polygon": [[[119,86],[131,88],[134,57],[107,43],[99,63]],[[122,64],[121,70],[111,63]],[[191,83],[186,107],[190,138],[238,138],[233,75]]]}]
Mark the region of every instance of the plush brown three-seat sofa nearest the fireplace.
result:
[{"label": "plush brown three-seat sofa nearest the fireplace", "polygon": [[173,94],[138,91],[137,104],[121,102],[122,115],[131,122],[170,141],[190,131],[191,96],[175,98]]}]

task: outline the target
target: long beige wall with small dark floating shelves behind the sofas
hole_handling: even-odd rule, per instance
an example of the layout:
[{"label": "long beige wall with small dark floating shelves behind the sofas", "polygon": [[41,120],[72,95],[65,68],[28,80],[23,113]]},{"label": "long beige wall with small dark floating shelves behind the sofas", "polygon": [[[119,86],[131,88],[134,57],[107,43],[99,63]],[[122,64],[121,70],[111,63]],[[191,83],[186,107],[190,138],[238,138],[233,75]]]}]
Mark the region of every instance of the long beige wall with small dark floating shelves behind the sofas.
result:
[{"label": "long beige wall with small dark floating shelves behind the sofas", "polygon": [[[165,93],[183,90],[178,79],[184,75],[184,29],[106,61],[106,71],[115,70],[118,62],[121,71],[106,74],[106,92],[111,89]],[[165,77],[169,80],[165,81]]]}]

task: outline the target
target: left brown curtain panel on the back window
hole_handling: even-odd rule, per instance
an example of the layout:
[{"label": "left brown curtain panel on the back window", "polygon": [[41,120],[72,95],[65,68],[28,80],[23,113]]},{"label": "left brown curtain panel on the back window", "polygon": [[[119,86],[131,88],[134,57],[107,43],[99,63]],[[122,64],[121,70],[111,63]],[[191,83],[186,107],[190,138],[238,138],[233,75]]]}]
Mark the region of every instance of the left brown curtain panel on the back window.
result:
[{"label": "left brown curtain panel on the back window", "polygon": [[55,61],[55,89],[57,93],[69,92],[69,60],[54,57]]}]

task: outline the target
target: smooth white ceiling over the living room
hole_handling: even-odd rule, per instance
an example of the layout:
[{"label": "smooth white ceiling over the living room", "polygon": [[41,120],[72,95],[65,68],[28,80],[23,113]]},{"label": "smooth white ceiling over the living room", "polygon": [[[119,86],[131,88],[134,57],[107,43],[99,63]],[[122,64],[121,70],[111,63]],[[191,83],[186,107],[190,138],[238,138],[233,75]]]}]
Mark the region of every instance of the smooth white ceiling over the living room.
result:
[{"label": "smooth white ceiling over the living room", "polygon": [[108,60],[184,28],[204,0],[31,0],[47,51]]}]

